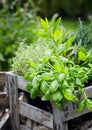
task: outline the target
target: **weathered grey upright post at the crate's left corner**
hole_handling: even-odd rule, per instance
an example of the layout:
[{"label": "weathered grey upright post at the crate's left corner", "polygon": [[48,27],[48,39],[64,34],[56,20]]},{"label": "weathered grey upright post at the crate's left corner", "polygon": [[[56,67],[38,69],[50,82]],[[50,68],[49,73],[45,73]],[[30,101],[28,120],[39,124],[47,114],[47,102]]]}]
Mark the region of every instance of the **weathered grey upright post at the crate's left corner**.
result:
[{"label": "weathered grey upright post at the crate's left corner", "polygon": [[13,74],[7,74],[7,88],[9,95],[10,105],[10,117],[12,130],[20,130],[20,121],[18,113],[18,88],[17,88],[17,76]]}]

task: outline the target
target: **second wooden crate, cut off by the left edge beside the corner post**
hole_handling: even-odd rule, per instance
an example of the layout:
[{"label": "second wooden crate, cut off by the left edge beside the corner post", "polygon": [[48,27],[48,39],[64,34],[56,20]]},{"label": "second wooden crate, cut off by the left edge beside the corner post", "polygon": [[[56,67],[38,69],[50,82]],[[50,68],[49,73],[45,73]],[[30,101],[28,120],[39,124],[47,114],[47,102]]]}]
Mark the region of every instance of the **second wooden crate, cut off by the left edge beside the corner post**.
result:
[{"label": "second wooden crate, cut off by the left edge beside the corner post", "polygon": [[6,77],[0,73],[0,130],[2,130],[9,120],[9,102],[6,88]]}]

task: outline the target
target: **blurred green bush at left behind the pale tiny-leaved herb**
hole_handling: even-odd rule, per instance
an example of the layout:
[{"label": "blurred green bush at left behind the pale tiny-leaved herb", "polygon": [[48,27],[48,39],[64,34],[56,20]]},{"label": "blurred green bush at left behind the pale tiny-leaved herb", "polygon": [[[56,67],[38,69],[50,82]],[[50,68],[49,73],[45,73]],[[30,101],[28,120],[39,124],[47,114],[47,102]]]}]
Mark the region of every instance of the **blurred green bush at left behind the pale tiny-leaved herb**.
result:
[{"label": "blurred green bush at left behind the pale tiny-leaved herb", "polygon": [[0,11],[0,70],[9,70],[12,57],[18,43],[25,39],[28,43],[36,40],[37,18],[26,8],[19,8],[10,14],[7,10]]}]

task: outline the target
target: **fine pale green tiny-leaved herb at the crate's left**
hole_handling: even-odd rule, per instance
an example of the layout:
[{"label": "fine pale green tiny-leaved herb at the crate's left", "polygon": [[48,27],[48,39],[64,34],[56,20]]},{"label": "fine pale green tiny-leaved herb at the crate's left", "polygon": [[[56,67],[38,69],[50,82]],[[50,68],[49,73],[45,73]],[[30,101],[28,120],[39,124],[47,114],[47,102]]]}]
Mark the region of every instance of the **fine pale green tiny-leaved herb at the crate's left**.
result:
[{"label": "fine pale green tiny-leaved herb at the crate's left", "polygon": [[23,41],[13,58],[12,70],[17,74],[26,75],[27,72],[32,71],[30,64],[39,64],[47,51],[49,52],[48,45],[45,45],[44,41],[40,41],[40,39],[37,43],[30,45],[25,44],[25,41]]}]

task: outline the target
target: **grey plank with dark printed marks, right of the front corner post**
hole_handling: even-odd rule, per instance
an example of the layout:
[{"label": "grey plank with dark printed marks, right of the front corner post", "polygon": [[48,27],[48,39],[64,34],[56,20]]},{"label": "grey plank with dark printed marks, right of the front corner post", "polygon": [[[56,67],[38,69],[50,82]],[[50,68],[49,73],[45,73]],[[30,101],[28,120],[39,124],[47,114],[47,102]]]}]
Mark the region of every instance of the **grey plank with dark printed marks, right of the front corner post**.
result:
[{"label": "grey plank with dark printed marks, right of the front corner post", "polygon": [[[89,86],[86,88],[86,93],[88,93],[89,98],[92,98],[92,86]],[[81,98],[83,98],[83,95]],[[90,111],[87,108],[85,108],[83,112],[78,113],[77,112],[78,106],[79,106],[78,103],[68,102],[65,105],[65,108],[63,110],[64,111],[63,121],[69,121],[69,120],[74,119],[76,117],[90,113]]]}]

